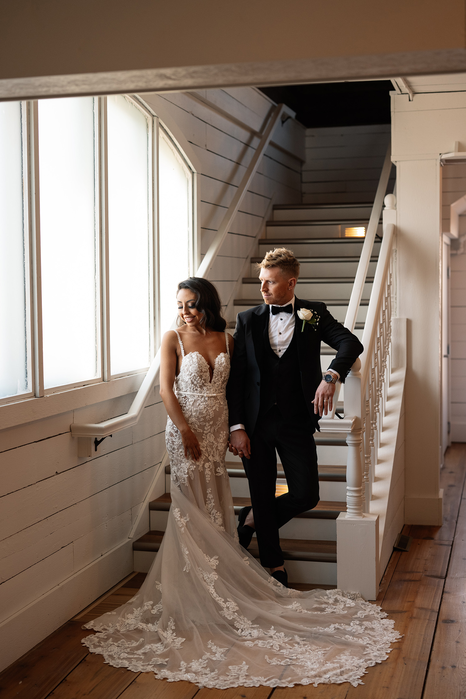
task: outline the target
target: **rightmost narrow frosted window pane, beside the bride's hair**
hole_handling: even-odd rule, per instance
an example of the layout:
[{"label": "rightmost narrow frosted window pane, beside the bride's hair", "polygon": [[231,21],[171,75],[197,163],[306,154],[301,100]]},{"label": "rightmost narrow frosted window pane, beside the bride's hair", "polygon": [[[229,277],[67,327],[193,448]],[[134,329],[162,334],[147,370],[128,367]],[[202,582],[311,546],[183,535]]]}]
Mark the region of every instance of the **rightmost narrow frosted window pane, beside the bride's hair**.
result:
[{"label": "rightmost narrow frosted window pane, beside the bride's hair", "polygon": [[177,315],[178,282],[189,277],[192,175],[173,143],[159,131],[159,255],[161,333]]}]

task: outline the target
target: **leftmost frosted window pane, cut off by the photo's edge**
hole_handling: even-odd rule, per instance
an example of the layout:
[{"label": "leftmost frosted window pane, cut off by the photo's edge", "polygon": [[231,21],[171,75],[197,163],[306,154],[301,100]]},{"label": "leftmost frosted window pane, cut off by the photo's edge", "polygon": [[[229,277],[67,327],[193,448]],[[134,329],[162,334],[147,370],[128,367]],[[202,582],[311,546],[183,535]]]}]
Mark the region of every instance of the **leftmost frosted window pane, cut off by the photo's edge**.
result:
[{"label": "leftmost frosted window pane, cut off by the photo's edge", "polygon": [[0,103],[0,398],[30,387],[21,103]]}]

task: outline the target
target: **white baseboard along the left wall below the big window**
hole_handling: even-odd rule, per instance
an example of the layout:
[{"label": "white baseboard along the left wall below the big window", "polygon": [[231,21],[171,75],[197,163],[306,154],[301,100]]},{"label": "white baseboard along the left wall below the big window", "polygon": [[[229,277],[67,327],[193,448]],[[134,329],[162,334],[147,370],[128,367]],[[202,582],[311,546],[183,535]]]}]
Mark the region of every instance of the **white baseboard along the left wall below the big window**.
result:
[{"label": "white baseboard along the left wall below the big window", "polygon": [[0,671],[133,571],[133,541],[78,570],[0,624]]}]

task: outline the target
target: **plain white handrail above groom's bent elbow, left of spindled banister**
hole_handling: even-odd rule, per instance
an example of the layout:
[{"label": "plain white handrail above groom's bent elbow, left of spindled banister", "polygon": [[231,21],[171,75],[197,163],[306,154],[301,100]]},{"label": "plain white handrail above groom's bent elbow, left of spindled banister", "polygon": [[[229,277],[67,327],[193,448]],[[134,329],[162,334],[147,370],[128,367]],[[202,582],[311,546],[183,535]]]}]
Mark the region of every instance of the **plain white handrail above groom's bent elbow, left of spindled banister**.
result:
[{"label": "plain white handrail above groom's bent elbow, left of spindled banister", "polygon": [[367,277],[367,270],[369,269],[370,258],[372,256],[377,226],[379,226],[384,196],[388,180],[390,179],[391,166],[391,143],[388,143],[384,166],[380,173],[379,185],[377,186],[377,192],[375,194],[374,206],[372,206],[369,224],[367,225],[367,231],[365,233],[363,250],[361,251],[356,277],[354,278],[353,290],[349,298],[347,315],[344,319],[344,327],[351,330],[351,332],[354,331],[356,318],[358,317],[359,304],[361,303],[361,298],[363,298],[365,278]]}]

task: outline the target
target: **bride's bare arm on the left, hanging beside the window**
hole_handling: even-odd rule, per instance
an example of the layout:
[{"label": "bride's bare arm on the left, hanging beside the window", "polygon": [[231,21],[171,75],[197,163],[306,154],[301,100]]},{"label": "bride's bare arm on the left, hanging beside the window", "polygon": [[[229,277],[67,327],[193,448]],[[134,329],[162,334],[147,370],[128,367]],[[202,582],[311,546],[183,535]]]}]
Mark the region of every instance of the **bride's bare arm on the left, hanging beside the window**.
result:
[{"label": "bride's bare arm on the left, hanging beside the window", "polygon": [[163,336],[160,352],[160,397],[171,421],[180,431],[184,456],[187,458],[188,454],[191,454],[198,461],[201,456],[201,447],[196,435],[187,424],[180,403],[173,393],[177,364],[176,347],[176,335],[173,331],[168,331]]}]

